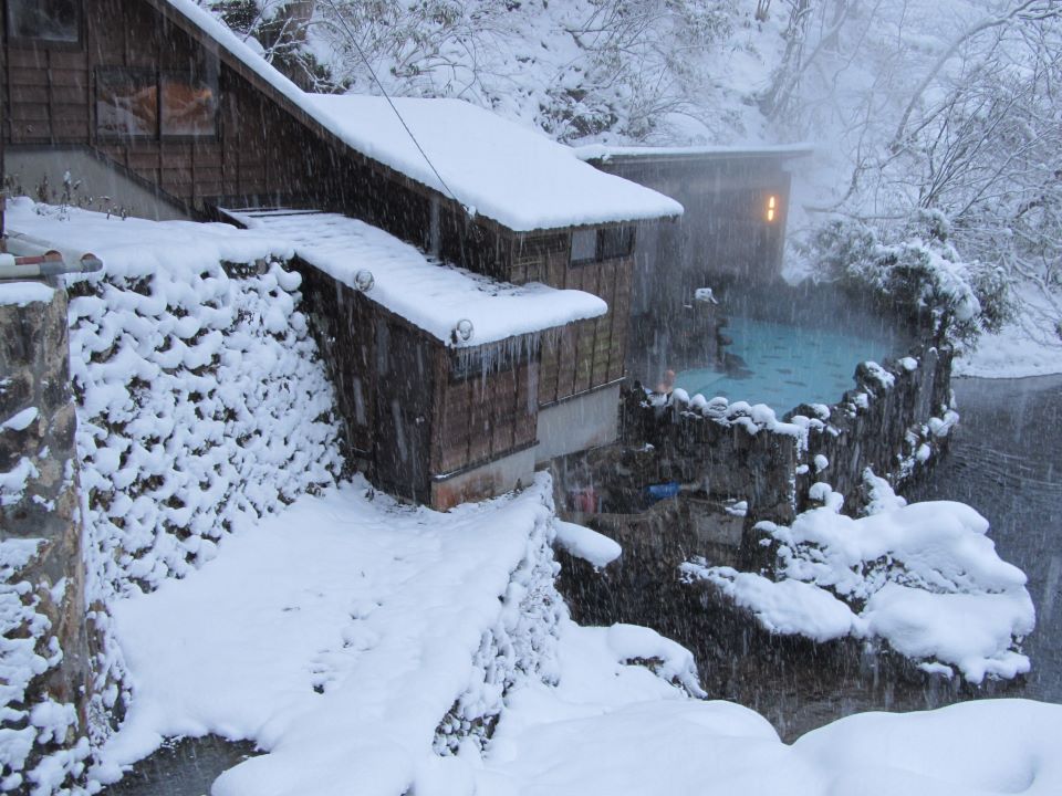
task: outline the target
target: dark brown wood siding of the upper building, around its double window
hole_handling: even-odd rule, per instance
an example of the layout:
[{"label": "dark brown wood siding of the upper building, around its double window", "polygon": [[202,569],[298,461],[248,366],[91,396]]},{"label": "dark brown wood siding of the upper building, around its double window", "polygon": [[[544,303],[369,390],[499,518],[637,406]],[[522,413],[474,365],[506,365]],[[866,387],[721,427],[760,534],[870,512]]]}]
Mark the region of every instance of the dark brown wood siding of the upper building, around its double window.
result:
[{"label": "dark brown wood siding of the upper building, around its double window", "polygon": [[[159,8],[166,13],[153,0],[84,0],[80,43],[9,41],[4,31],[4,144],[85,148],[194,216],[211,217],[216,206],[312,206],[427,244],[427,188],[351,150],[175,11]],[[6,19],[3,8],[0,24]],[[216,74],[216,135],[101,135],[100,75],[112,70]]]}]

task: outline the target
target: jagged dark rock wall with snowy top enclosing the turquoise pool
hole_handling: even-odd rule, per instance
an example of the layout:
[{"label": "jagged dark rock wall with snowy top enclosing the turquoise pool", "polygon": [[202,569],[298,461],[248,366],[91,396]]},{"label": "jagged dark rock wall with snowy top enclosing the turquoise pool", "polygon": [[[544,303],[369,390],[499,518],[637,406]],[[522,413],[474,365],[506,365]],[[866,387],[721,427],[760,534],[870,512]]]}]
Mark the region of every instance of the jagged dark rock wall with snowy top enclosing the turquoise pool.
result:
[{"label": "jagged dark rock wall with snowy top enclosing the turquoise pool", "polygon": [[816,494],[825,484],[855,512],[866,500],[866,468],[895,486],[947,443],[958,420],[951,356],[949,348],[927,345],[885,366],[863,363],[841,401],[800,406],[783,419],[766,405],[690,397],[681,389],[666,398],[632,391],[623,409],[624,442],[653,446],[654,460],[667,470],[658,481],[746,501],[749,526],[792,521],[821,503]]}]

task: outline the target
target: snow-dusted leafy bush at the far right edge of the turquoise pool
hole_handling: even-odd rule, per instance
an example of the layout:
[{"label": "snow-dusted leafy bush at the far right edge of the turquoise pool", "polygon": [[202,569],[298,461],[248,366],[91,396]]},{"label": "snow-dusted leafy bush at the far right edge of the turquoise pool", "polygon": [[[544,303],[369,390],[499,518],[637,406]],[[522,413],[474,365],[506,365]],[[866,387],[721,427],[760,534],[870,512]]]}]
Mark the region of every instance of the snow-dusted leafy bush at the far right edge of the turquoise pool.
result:
[{"label": "snow-dusted leafy bush at the far right edge of the turquoise pool", "polygon": [[[810,255],[820,276],[870,290],[935,337],[975,343],[1010,316],[1008,280],[996,266],[965,262],[949,240],[947,219],[917,212],[894,240],[872,227],[834,220],[820,228]],[[892,235],[891,235],[892,238]]]}]

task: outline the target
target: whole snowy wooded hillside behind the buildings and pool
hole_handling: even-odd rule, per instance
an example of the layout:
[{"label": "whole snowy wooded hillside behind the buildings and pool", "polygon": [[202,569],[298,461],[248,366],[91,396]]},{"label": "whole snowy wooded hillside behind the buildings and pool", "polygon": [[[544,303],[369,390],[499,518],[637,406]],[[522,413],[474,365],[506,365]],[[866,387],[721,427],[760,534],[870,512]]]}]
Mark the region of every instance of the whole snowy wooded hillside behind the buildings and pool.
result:
[{"label": "whole snowy wooded hillside behind the buildings and pool", "polygon": [[461,97],[573,144],[811,142],[791,279],[836,277],[827,223],[931,243],[928,213],[1002,327],[966,371],[1062,370],[1051,0],[200,3],[319,91]]}]

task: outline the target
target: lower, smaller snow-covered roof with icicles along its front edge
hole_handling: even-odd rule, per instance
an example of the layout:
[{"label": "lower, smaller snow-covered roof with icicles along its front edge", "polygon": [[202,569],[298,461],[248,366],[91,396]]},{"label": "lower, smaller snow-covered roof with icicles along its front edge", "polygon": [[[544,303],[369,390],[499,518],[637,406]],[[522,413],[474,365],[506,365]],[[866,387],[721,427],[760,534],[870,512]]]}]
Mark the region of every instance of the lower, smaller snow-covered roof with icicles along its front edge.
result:
[{"label": "lower, smaller snow-covered roof with icicles along its front edge", "polygon": [[365,294],[368,298],[449,345],[454,345],[454,327],[462,320],[471,321],[472,335],[457,345],[468,347],[597,317],[608,311],[605,302],[582,291],[499,283],[433,262],[408,243],[346,216],[229,213],[252,230],[290,241],[300,258],[344,284],[355,286],[357,273],[369,271],[374,284]]}]

